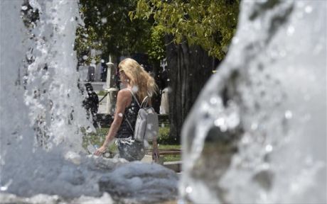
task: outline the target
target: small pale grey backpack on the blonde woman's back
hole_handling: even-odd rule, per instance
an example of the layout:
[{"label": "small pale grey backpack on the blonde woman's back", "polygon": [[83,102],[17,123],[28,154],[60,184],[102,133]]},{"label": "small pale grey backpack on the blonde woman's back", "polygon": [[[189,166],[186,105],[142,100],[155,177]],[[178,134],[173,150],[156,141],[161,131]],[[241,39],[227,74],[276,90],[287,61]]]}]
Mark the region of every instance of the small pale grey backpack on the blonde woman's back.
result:
[{"label": "small pale grey backpack on the blonde woman's back", "polygon": [[146,96],[140,104],[134,95],[133,91],[129,89],[134,97],[137,105],[139,105],[139,112],[137,113],[135,127],[133,128],[129,120],[126,118],[129,128],[134,131],[134,139],[139,142],[144,140],[151,141],[156,138],[159,132],[158,114],[152,107],[146,107],[149,102],[149,96]]}]

